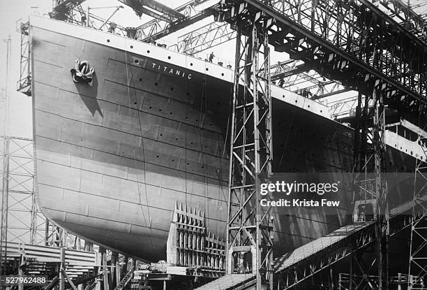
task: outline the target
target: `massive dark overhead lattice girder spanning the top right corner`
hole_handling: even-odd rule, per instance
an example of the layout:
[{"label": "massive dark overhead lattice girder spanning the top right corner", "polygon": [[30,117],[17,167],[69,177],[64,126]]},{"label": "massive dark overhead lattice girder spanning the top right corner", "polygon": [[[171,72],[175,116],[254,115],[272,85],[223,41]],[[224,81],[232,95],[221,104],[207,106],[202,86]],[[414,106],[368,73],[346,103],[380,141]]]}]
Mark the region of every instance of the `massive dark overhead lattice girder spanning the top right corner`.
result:
[{"label": "massive dark overhead lattice girder spanning the top right corner", "polygon": [[270,44],[327,78],[368,93],[382,82],[384,102],[416,110],[427,104],[427,47],[364,1],[225,1],[223,20],[245,25],[248,14],[274,19]]}]

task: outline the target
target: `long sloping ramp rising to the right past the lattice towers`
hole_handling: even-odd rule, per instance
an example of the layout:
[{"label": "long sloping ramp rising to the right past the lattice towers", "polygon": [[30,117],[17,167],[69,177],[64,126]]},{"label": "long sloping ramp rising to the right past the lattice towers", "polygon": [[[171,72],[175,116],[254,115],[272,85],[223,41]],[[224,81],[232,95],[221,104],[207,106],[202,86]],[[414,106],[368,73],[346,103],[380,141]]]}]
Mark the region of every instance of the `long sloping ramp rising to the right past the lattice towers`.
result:
[{"label": "long sloping ramp rising to the right past the lattice towers", "polygon": [[[419,197],[427,202],[427,194]],[[394,235],[411,225],[409,217],[403,215],[412,209],[408,201],[390,210],[390,235]],[[282,288],[292,288],[304,282],[315,273],[361,249],[375,240],[374,221],[347,224],[328,235],[308,242],[292,252],[274,259],[274,276]],[[352,250],[350,250],[352,249]],[[255,289],[255,275],[232,274],[209,282],[197,290],[244,290]]]}]

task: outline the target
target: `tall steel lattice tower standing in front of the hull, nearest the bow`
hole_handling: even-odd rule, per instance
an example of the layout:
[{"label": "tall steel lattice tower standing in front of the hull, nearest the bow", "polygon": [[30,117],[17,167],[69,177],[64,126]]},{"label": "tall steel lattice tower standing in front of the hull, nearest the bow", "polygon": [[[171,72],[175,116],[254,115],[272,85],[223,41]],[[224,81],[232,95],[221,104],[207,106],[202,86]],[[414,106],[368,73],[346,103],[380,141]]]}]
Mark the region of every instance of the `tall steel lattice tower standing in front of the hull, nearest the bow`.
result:
[{"label": "tall steel lattice tower standing in front of the hull, nearest the bow", "polygon": [[244,253],[250,253],[250,268],[256,276],[256,289],[271,289],[271,208],[261,207],[260,186],[271,174],[271,90],[267,27],[272,20],[262,17],[261,13],[252,14],[246,10],[240,12],[237,17],[239,19],[236,20],[238,28],[230,148],[227,274],[235,272],[236,262],[241,263],[241,268],[246,268],[242,265]]}]

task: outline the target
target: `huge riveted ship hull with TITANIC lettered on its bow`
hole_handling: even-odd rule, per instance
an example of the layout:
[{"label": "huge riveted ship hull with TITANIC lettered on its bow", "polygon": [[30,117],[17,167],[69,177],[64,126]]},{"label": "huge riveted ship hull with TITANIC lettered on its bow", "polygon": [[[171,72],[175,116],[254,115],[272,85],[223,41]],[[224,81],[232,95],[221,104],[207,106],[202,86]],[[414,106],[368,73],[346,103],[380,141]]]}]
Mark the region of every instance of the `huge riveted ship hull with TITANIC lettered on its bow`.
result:
[{"label": "huge riveted ship hull with TITANIC lettered on its bow", "polygon": [[[33,20],[30,36],[36,191],[46,217],[146,261],[165,259],[177,203],[204,212],[207,229],[225,239],[233,72],[54,20]],[[73,82],[76,59],[95,69],[91,83]],[[348,222],[353,131],[320,104],[273,93],[274,171],[327,173],[345,196],[331,210],[275,208],[280,254]],[[391,169],[412,170],[414,159],[387,154]]]}]

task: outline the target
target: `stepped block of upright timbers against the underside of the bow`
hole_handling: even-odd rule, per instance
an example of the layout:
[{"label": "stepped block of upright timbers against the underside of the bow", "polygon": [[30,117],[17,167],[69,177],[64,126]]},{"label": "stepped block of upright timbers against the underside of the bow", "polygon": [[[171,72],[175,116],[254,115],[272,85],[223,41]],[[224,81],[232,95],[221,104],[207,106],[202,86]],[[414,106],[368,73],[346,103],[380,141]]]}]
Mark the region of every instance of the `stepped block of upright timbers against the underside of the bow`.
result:
[{"label": "stepped block of upright timbers against the underside of the bow", "polygon": [[207,231],[204,212],[175,203],[167,238],[167,263],[174,266],[174,272],[186,273],[185,269],[177,268],[184,267],[197,269],[199,274],[206,271],[220,274],[224,271],[224,261],[225,242]]}]

